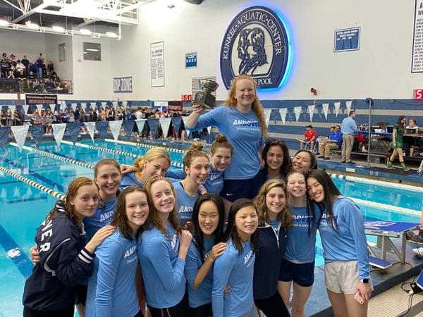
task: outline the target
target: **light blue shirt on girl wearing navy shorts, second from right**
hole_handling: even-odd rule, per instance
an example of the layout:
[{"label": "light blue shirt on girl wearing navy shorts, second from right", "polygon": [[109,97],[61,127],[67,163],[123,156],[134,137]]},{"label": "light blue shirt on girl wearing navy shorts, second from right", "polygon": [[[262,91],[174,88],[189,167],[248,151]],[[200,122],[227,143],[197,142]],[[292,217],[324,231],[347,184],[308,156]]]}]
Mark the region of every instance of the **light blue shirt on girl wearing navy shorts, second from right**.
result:
[{"label": "light blue shirt on girl wearing navy shorts, second from right", "polygon": [[[289,207],[293,213],[293,227],[288,229],[288,241],[284,258],[298,263],[312,263],[315,258],[317,223],[307,216],[307,207]],[[319,209],[315,206],[317,219]],[[309,230],[310,228],[310,230]]]}]

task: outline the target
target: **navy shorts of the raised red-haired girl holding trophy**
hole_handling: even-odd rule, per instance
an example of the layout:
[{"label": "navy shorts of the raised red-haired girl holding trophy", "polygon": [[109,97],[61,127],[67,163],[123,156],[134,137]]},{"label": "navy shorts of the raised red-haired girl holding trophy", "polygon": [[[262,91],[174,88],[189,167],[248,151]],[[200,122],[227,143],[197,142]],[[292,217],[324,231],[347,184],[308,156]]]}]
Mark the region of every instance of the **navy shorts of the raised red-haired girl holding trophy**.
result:
[{"label": "navy shorts of the raised red-haired girl holding trophy", "polygon": [[223,180],[223,189],[220,196],[232,202],[240,198],[253,199],[263,183],[264,176],[261,172],[246,180]]}]

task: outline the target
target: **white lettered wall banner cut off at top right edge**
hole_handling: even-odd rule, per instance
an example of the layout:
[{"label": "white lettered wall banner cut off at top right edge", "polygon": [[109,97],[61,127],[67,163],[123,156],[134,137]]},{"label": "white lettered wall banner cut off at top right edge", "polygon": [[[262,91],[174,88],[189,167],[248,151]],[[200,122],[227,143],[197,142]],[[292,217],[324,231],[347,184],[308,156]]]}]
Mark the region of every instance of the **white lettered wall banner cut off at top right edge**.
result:
[{"label": "white lettered wall banner cut off at top right edge", "polygon": [[423,73],[423,0],[415,0],[411,73]]}]

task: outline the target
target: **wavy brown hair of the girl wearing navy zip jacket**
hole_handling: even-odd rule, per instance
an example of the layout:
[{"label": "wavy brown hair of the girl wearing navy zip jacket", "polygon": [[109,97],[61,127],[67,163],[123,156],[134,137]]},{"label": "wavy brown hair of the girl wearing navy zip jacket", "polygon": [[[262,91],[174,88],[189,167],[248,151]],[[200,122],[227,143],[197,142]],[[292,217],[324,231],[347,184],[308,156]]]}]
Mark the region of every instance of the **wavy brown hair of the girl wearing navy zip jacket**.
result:
[{"label": "wavy brown hair of the girl wearing navy zip jacket", "polygon": [[[266,206],[266,194],[270,191],[270,189],[275,187],[280,187],[285,193],[286,200],[288,200],[288,190],[286,189],[286,185],[283,180],[276,179],[265,182],[262,187],[260,187],[259,193],[253,201],[259,213],[260,226],[270,223],[269,213]],[[281,221],[282,227],[291,228],[293,226],[293,215],[288,208],[288,204],[285,204],[282,211],[278,213],[278,220]]]}]

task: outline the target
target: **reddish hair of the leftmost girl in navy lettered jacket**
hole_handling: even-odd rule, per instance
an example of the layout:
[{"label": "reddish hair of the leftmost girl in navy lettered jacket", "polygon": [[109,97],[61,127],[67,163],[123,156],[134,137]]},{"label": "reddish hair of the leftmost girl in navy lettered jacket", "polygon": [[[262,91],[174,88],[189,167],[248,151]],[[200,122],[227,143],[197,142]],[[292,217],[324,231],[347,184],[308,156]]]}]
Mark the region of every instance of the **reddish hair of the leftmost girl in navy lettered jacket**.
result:
[{"label": "reddish hair of the leftmost girl in navy lettered jacket", "polygon": [[54,216],[54,213],[56,213],[57,211],[58,205],[63,205],[68,216],[73,220],[73,222],[76,225],[78,225],[78,228],[82,230],[81,220],[78,217],[77,211],[75,210],[75,206],[71,204],[71,200],[76,197],[76,194],[78,194],[78,190],[80,189],[80,187],[91,186],[91,185],[94,185],[95,187],[97,187],[97,191],[99,190],[99,187],[94,182],[94,180],[91,180],[90,178],[85,178],[85,177],[75,178],[75,180],[73,180],[71,184],[69,184],[68,192],[66,192],[65,194],[65,200],[59,200],[56,202],[54,209],[51,209],[51,211],[47,215],[46,220],[49,220],[51,219],[51,217]]}]

